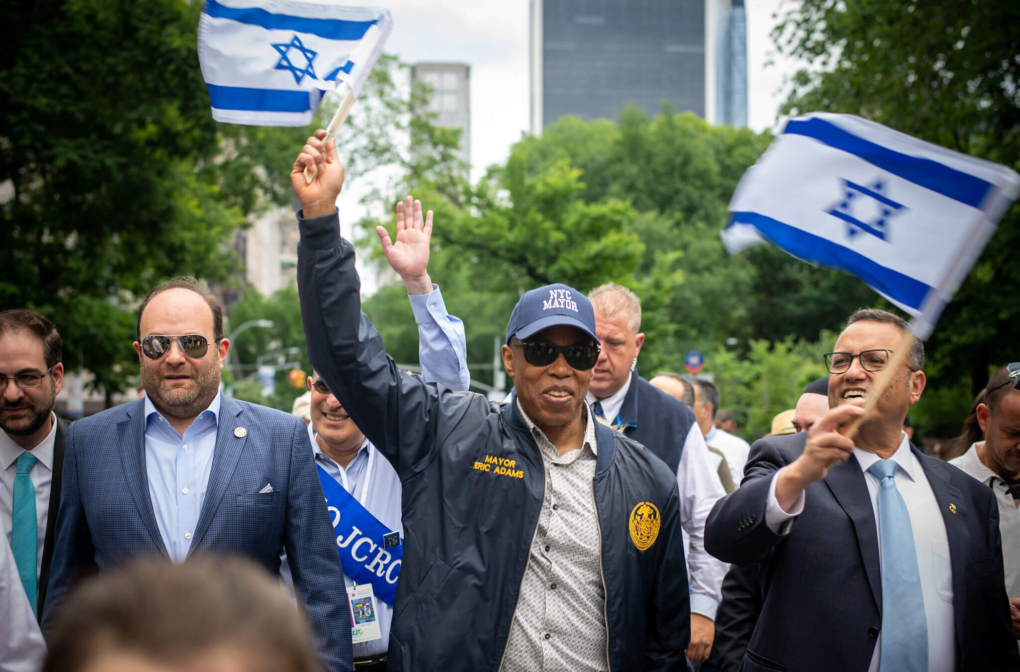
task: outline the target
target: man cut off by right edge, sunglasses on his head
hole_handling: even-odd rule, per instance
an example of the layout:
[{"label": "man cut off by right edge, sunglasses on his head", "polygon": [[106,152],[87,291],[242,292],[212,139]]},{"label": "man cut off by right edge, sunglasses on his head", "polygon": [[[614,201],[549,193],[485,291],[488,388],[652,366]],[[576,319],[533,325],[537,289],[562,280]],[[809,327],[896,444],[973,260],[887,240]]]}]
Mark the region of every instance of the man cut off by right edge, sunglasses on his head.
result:
[{"label": "man cut off by right edge, sunglasses on his head", "polygon": [[984,401],[975,409],[984,441],[975,442],[950,464],[994,493],[1006,595],[1013,634],[1020,639],[1020,362],[996,369],[984,389]]}]

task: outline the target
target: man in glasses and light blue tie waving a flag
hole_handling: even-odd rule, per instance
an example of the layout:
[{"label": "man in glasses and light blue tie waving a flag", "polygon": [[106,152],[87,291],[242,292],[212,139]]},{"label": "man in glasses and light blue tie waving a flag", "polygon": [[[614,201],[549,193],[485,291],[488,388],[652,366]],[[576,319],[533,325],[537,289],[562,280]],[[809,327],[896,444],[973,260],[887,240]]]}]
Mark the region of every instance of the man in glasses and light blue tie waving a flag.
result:
[{"label": "man in glasses and light blue tie waving a flag", "polygon": [[[994,496],[903,431],[924,390],[922,344],[874,387],[908,328],[883,310],[851,315],[825,356],[829,412],[756,442],[741,487],[709,516],[709,553],[760,561],[768,577],[747,668],[1020,668]],[[844,436],[869,394],[877,405]]]}]

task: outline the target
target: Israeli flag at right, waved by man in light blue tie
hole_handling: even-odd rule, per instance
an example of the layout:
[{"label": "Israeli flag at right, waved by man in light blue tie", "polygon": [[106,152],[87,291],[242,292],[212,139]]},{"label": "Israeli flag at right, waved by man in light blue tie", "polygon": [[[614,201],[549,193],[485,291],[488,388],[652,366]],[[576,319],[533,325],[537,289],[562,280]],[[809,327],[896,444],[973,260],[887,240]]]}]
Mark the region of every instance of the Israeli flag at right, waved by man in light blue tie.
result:
[{"label": "Israeli flag at right, waved by man in light blue tie", "polygon": [[722,241],[854,273],[927,339],[1020,175],[848,114],[790,119],[741,178]]}]

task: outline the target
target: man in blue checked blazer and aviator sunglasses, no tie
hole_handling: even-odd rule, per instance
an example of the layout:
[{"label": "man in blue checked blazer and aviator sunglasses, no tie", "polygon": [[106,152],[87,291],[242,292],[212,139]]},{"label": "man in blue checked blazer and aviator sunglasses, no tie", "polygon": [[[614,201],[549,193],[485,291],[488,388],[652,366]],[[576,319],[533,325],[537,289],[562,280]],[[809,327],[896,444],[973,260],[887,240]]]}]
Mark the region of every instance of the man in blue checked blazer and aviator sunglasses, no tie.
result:
[{"label": "man in blue checked blazer and aviator sunglasses, no tie", "polygon": [[351,670],[351,620],[305,424],[219,393],[222,308],[194,278],[139,307],[146,397],[71,424],[43,630],[83,574],[139,557],[287,551],[326,669]]}]

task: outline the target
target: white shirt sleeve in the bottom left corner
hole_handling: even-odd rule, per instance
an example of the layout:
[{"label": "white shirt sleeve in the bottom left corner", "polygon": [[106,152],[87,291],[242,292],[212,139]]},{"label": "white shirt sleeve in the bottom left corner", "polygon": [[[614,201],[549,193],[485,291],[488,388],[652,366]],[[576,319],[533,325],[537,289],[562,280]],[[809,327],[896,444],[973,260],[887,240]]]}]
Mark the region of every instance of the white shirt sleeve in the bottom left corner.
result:
[{"label": "white shirt sleeve in the bottom left corner", "polygon": [[38,672],[46,644],[24,597],[8,536],[7,524],[0,518],[0,672]]}]

